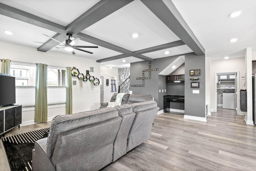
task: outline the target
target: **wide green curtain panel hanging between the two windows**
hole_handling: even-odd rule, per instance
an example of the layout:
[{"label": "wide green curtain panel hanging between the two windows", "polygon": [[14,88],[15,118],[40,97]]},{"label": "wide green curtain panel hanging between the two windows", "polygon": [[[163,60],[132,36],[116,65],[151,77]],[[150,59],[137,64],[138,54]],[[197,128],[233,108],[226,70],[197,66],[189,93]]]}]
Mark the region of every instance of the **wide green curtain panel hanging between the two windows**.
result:
[{"label": "wide green curtain panel hanging between the two windows", "polygon": [[36,64],[35,122],[45,122],[47,119],[47,65]]}]

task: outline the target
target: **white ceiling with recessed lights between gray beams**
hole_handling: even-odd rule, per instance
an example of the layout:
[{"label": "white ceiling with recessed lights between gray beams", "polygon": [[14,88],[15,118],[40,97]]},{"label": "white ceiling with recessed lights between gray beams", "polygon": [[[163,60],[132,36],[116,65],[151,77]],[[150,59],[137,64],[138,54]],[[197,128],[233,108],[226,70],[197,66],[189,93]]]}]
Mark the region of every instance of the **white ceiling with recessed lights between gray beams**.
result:
[{"label": "white ceiling with recessed lights between gray beams", "polygon": [[[143,61],[145,58],[153,60],[193,52],[192,49],[196,43],[193,43],[192,46],[186,43],[171,48],[163,48],[164,44],[175,41],[185,43],[186,39],[180,35],[177,36],[177,30],[184,33],[184,29],[179,27],[175,31],[174,26],[174,30],[171,30],[172,21],[168,21],[169,16],[159,18],[156,11],[161,12],[163,10],[166,15],[170,15],[170,13],[163,8],[154,12],[154,9],[150,9],[144,4],[144,1],[134,0],[119,8],[117,6],[119,3],[125,2],[124,0],[112,0],[112,2],[110,0],[106,2],[106,4],[110,4],[110,7],[104,6],[108,9],[106,12],[102,12],[104,9],[98,6],[105,4],[105,1],[100,0],[0,0],[2,3],[0,4],[0,41],[39,48],[42,44],[35,42],[49,40],[42,34],[52,37],[59,32],[64,35],[66,32],[62,28],[72,27],[72,24],[80,26],[84,21],[76,21],[76,18],[85,15],[85,19],[88,19],[86,22],[89,24],[87,26],[82,23],[84,29],[74,36],[78,36],[81,40],[75,45],[99,46],[99,48],[84,49],[94,52],[93,54],[75,50],[75,56],[102,60],[102,65],[122,68],[126,67],[122,66],[123,64]],[[247,47],[252,47],[253,51],[256,50],[256,0],[155,0],[155,5],[158,6],[160,2],[164,2],[174,16],[177,14],[173,8],[177,8],[184,19],[178,19],[181,25],[184,26],[185,30],[187,30],[185,25],[189,26],[192,34],[196,36],[204,48],[206,57],[211,57],[211,60],[224,59],[225,56],[230,58],[244,57]],[[18,9],[18,13],[24,16],[17,18],[12,9],[6,10],[3,4]],[[116,10],[109,12],[112,8]],[[100,12],[96,15],[93,13],[94,9],[96,12]],[[4,10],[7,12],[3,12]],[[29,14],[21,13],[19,10]],[[237,10],[242,10],[240,16],[237,18],[228,16]],[[94,18],[90,18],[90,15],[94,15]],[[38,17],[48,20],[47,24],[50,23],[50,27],[38,24],[37,21],[41,21]],[[94,20],[95,23],[93,23]],[[10,30],[14,34],[8,36],[4,34],[3,30]],[[189,32],[189,30],[187,31]],[[132,38],[133,33],[138,33],[139,37]],[[191,37],[193,38],[193,35]],[[60,40],[60,38],[57,37],[56,39]],[[230,43],[229,40],[232,38],[238,38],[238,41]],[[64,39],[62,38],[60,41],[63,42]],[[58,44],[58,42],[51,43]],[[158,46],[162,48],[158,49]],[[136,54],[138,51],[141,53]],[[169,51],[169,54],[165,54],[166,51]],[[55,52],[70,54],[72,58],[72,54],[65,50],[55,50]],[[113,60],[105,60],[110,57],[113,57],[111,58]]]}]

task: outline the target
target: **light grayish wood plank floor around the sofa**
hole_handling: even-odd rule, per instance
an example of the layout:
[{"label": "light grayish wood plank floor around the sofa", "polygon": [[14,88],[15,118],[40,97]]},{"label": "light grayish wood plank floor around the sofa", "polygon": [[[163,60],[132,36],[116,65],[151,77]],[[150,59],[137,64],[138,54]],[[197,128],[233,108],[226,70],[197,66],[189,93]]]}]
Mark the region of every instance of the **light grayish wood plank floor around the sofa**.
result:
[{"label": "light grayish wood plank floor around the sofa", "polygon": [[[50,122],[15,128],[6,136],[49,127]],[[0,170],[10,171],[0,143]],[[244,115],[218,108],[207,122],[183,115],[156,116],[150,140],[124,155],[104,171],[255,171],[256,126]]]}]

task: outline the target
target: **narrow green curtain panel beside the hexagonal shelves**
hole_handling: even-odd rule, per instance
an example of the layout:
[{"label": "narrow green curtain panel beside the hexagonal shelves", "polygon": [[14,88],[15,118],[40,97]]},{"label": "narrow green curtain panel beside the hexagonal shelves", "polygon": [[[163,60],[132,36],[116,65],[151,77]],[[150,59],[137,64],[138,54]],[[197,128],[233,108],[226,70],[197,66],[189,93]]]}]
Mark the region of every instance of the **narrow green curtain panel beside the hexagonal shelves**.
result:
[{"label": "narrow green curtain panel beside the hexagonal shelves", "polygon": [[66,114],[72,114],[72,74],[71,67],[67,67],[67,84],[66,84]]}]

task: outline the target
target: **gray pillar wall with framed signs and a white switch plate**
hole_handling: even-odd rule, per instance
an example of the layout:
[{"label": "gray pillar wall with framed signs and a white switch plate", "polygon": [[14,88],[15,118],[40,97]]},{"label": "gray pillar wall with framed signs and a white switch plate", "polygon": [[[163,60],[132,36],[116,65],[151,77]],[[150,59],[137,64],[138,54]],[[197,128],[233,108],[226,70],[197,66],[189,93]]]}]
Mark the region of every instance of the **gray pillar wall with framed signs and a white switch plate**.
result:
[{"label": "gray pillar wall with framed signs and a white switch plate", "polygon": [[[205,117],[205,55],[185,55],[185,115]],[[190,76],[190,70],[200,69],[200,76]],[[190,78],[199,80],[190,80]],[[199,88],[191,88],[191,82],[199,82]],[[193,93],[199,90],[199,94]]]}]

